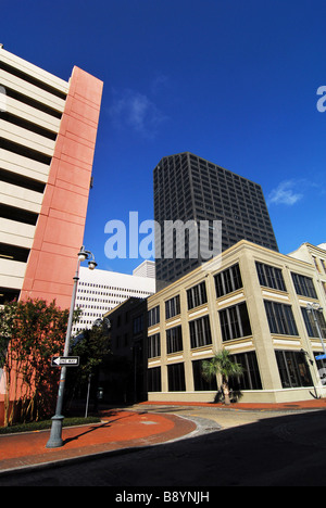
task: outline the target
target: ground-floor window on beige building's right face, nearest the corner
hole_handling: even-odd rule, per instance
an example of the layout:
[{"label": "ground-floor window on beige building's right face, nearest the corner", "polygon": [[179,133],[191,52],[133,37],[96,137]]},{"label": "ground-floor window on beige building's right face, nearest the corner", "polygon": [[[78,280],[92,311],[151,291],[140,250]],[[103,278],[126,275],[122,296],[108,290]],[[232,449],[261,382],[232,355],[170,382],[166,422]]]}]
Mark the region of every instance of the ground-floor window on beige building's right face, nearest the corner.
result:
[{"label": "ground-floor window on beige building's right face, nearest the corner", "polygon": [[313,385],[304,353],[276,351],[275,355],[284,389]]}]

